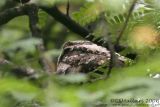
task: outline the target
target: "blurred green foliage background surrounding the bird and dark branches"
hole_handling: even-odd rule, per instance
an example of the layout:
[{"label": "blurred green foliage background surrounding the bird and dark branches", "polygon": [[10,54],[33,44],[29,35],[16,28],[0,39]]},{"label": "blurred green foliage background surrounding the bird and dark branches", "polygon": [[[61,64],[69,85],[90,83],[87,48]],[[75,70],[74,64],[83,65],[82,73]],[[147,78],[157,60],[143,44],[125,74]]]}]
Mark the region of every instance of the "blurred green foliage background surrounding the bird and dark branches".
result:
[{"label": "blurred green foliage background surrounding the bird and dark branches", "polygon": [[[69,17],[95,37],[105,38],[110,33],[114,44],[133,1],[69,0]],[[66,14],[68,0],[30,0],[26,4],[30,3],[56,5]],[[26,4],[1,0],[0,12]],[[39,38],[32,36],[27,16],[1,25],[0,107],[114,107],[117,104],[120,107],[159,107],[159,10],[159,0],[137,0],[120,40],[126,47],[120,54],[134,53],[136,57],[129,65],[114,68],[109,78],[94,82],[88,82],[90,78],[86,74],[54,75],[63,44],[84,38],[43,10],[38,12],[38,26],[42,31]],[[43,53],[36,48],[42,42]],[[49,61],[52,73],[45,71],[41,57]],[[107,69],[100,70],[107,72]]]}]

